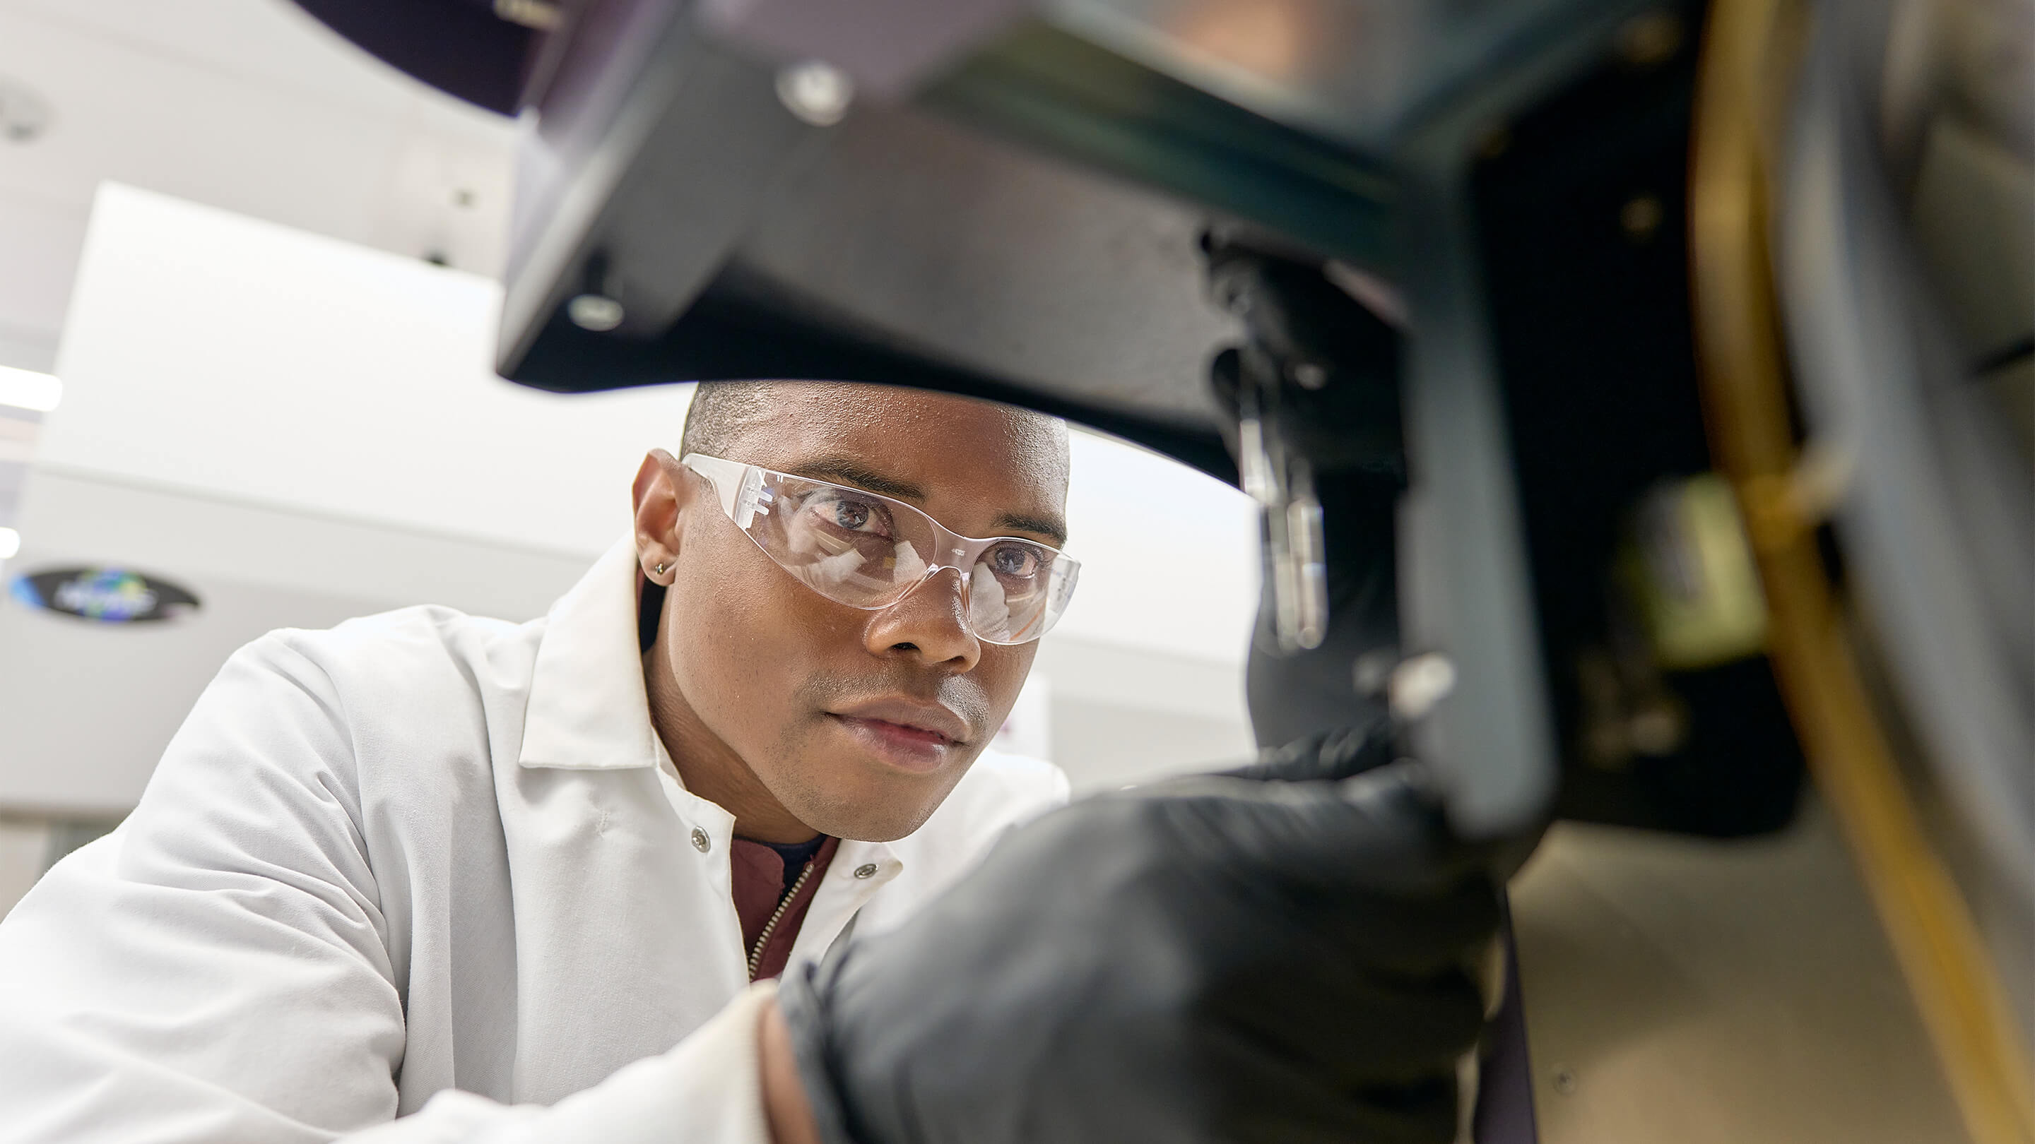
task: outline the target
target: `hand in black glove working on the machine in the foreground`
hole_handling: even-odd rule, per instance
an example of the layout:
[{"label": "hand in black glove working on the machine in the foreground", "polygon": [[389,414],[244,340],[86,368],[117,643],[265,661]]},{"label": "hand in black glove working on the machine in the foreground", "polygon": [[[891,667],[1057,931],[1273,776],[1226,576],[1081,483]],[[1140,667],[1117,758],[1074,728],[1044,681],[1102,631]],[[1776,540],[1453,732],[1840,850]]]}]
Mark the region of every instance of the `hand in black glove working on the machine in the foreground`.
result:
[{"label": "hand in black glove working on the machine in the foreground", "polygon": [[1077,802],[788,975],[822,1138],[1453,1140],[1498,892],[1414,763],[1341,778],[1382,749],[1329,733]]}]

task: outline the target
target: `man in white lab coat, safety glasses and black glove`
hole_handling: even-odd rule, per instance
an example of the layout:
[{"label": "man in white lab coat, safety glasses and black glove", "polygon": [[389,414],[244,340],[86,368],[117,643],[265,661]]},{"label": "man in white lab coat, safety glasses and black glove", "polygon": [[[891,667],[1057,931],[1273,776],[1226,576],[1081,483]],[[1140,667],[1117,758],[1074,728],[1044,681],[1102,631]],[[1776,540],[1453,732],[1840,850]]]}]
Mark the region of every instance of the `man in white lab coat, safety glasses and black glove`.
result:
[{"label": "man in white lab coat, safety glasses and black glove", "polygon": [[1435,881],[1402,788],[1091,802],[940,896],[1066,794],[983,757],[1072,588],[1066,480],[1034,413],[708,387],[547,619],[248,645],[0,924],[0,1140],[1447,1128],[1488,888]]}]

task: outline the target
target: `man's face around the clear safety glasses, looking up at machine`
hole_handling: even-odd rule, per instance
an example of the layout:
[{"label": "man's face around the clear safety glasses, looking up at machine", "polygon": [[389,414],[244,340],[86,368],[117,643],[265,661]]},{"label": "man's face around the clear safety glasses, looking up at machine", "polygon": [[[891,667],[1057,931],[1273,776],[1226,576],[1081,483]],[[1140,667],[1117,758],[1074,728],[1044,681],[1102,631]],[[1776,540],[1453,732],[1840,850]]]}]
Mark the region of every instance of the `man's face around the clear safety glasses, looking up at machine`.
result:
[{"label": "man's face around the clear safety glasses, looking up at machine", "polygon": [[[1066,434],[1044,417],[867,385],[777,385],[729,460],[851,484],[961,535],[1060,546]],[[663,655],[698,725],[806,826],[916,831],[1003,725],[1038,643],[969,633],[961,574],[881,611],[838,605],[765,556],[712,487],[665,462],[678,501]]]}]

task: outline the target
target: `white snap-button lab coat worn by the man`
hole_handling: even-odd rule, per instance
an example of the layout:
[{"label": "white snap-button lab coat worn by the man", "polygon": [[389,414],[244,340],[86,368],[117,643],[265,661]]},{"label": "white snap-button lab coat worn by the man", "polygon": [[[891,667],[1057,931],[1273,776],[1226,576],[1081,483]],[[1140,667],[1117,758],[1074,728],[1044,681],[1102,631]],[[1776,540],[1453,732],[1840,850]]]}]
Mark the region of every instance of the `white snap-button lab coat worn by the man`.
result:
[{"label": "white snap-button lab coat worn by the man", "polygon": [[[842,841],[794,963],[1064,798],[985,755]],[[0,1142],[761,1144],[733,822],[651,729],[629,544],[527,625],[256,639],[0,924]]]}]

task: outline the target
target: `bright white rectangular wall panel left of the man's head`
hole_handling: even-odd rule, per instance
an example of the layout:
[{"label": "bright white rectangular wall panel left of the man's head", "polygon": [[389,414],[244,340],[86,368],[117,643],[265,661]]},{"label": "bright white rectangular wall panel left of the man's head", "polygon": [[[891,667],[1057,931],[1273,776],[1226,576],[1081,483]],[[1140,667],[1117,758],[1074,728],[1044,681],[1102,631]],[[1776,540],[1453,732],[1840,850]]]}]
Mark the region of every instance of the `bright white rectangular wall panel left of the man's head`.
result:
[{"label": "bright white rectangular wall panel left of the man's head", "polygon": [[478,275],[106,185],[39,468],[596,554],[690,393],[501,381],[499,305]]}]

